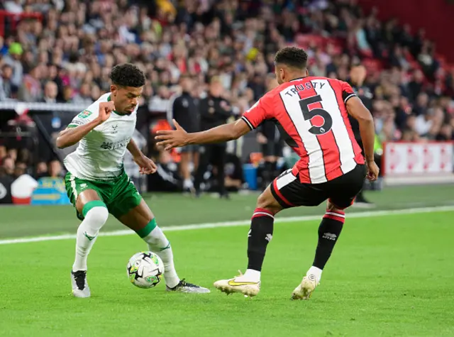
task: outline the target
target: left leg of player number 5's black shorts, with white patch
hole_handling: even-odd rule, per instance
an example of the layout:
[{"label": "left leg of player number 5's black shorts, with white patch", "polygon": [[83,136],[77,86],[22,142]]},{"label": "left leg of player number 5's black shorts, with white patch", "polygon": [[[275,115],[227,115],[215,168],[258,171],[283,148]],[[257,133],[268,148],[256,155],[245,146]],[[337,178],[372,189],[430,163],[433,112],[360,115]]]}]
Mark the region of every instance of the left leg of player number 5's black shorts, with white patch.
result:
[{"label": "left leg of player number 5's black shorts, with white patch", "polygon": [[291,169],[283,172],[270,184],[270,191],[283,209],[319,206],[328,199],[325,184],[302,184]]}]

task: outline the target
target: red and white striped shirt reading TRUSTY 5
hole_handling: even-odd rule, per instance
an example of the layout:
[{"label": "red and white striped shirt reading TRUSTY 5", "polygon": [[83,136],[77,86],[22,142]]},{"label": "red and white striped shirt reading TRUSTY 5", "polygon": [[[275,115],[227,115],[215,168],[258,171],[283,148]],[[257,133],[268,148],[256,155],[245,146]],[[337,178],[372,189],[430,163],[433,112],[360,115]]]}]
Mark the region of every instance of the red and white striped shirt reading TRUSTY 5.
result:
[{"label": "red and white striped shirt reading TRUSTY 5", "polygon": [[320,184],[364,164],[345,104],[356,96],[350,84],[304,77],[279,85],[243,115],[251,129],[275,121],[300,160],[292,172],[302,183]]}]

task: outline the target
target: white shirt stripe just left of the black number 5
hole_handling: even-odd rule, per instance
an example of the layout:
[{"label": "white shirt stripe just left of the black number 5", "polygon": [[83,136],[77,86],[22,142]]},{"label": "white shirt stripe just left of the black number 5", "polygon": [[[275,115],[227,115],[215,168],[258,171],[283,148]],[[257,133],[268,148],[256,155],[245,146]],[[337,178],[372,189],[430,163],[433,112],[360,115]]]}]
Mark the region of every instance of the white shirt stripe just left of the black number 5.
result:
[{"label": "white shirt stripe just left of the black number 5", "polygon": [[[301,141],[304,143],[307,155],[309,157],[309,177],[311,178],[312,184],[319,184],[326,182],[325,177],[325,166],[323,165],[323,151],[321,150],[319,140],[317,136],[309,132],[309,128],[312,127],[311,121],[304,121],[303,111],[299,105],[299,95],[292,92],[295,91],[295,86],[292,85],[282,90],[279,94],[284,102],[285,109],[292,119],[294,126],[297,128],[297,132]],[[290,96],[292,95],[292,96]]]}]

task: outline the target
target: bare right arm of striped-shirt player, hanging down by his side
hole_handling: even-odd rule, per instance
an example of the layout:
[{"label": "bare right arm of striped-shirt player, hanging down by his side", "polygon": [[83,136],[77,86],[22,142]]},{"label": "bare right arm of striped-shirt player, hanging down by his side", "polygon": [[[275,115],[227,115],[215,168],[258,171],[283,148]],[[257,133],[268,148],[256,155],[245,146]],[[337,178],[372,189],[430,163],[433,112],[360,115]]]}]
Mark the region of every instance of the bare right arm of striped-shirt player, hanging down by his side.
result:
[{"label": "bare right arm of striped-shirt player, hanging down by his side", "polygon": [[348,114],[353,116],[360,124],[360,135],[364,146],[365,160],[367,165],[367,178],[375,180],[378,177],[378,167],[374,161],[375,126],[374,118],[370,111],[362,104],[358,97],[352,97],[347,101]]}]

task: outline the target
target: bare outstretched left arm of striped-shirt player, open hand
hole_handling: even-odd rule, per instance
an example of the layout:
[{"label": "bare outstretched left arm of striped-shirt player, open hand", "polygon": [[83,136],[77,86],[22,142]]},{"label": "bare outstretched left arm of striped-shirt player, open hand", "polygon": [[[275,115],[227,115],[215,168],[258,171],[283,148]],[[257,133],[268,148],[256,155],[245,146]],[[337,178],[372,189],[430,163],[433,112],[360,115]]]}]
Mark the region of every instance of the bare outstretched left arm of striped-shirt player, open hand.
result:
[{"label": "bare outstretched left arm of striped-shirt player, open hand", "polygon": [[156,145],[165,147],[165,150],[171,148],[181,148],[189,144],[206,144],[206,143],[221,143],[228,140],[238,139],[250,131],[250,127],[243,119],[238,121],[216,126],[206,131],[187,133],[184,128],[179,126],[177,121],[173,121],[174,131],[161,130],[157,131],[156,139],[160,140]]}]

